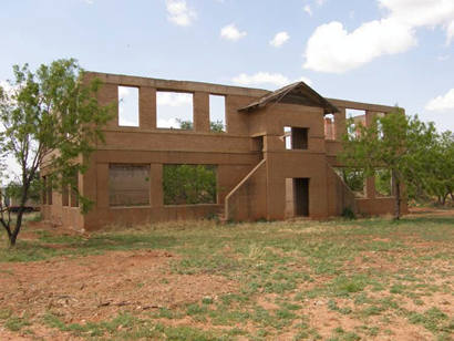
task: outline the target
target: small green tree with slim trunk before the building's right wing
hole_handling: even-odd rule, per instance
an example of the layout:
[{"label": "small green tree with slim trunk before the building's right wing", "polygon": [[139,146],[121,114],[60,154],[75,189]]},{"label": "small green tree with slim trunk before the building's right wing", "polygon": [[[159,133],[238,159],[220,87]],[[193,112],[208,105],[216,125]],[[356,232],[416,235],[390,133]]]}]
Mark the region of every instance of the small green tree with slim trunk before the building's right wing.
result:
[{"label": "small green tree with slim trunk before the building's right wing", "polygon": [[399,107],[383,116],[375,116],[369,126],[348,122],[340,154],[345,166],[363,169],[374,176],[388,169],[393,178],[395,196],[394,218],[401,216],[402,185],[412,185],[426,176],[424,156],[436,140],[433,123],[425,124],[417,116],[405,116]]}]

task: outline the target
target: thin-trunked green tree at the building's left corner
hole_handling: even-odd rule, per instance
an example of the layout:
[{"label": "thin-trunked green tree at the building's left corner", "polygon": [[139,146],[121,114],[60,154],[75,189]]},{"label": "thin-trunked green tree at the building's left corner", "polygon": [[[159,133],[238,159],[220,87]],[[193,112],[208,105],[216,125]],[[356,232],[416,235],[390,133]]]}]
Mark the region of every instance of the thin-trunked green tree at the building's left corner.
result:
[{"label": "thin-trunked green tree at the building's left corner", "polygon": [[[74,174],[83,173],[93,146],[103,141],[102,127],[111,117],[111,106],[100,106],[99,80],[89,81],[73,59],[42,64],[34,72],[28,64],[13,66],[10,90],[0,86],[0,153],[12,156],[20,167],[20,200],[16,219],[2,207],[0,224],[14,246],[22,226],[24,205],[41,167],[48,184],[72,187],[81,209],[90,200],[80,196]],[[3,158],[4,162],[4,158]]]}]

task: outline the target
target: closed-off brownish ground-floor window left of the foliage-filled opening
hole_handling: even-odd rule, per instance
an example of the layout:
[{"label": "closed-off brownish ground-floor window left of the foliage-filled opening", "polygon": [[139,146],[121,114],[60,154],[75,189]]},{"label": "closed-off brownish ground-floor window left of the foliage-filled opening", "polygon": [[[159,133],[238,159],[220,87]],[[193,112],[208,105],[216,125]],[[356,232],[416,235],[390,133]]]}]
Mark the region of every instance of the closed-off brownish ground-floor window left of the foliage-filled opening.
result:
[{"label": "closed-off brownish ground-floor window left of the foliage-filled opening", "polygon": [[109,199],[111,206],[148,206],[149,165],[110,165]]}]

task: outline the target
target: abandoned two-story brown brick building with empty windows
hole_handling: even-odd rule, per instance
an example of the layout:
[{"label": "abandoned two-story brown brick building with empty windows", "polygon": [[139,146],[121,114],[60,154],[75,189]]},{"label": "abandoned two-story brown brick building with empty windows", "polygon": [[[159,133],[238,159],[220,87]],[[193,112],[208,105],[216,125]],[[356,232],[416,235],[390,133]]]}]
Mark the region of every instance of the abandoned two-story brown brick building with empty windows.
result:
[{"label": "abandoned two-story brown brick building with empty windows", "polygon": [[[302,82],[269,92],[103,73],[89,76],[104,82],[101,104],[121,105],[118,94],[134,91],[136,122],[125,126],[117,110],[105,127],[105,143],[96,146],[89,170],[79,175],[81,194],[95,203],[89,214],[80,213],[76,197],[68,192],[47,190],[42,213],[54,224],[94,229],[214,215],[278,220],[327,218],[345,208],[368,215],[393,211],[393,197],[378,195],[373,177],[365,179],[363,196],[355,197],[336,170],[342,166],[337,154],[345,112],[362,111],[359,120],[368,124],[392,106],[324,99]],[[169,92],[192,100],[186,130],[159,127],[156,99]],[[224,102],[225,126],[213,131],[215,97]],[[186,179],[178,179],[182,165],[186,168],[179,170],[189,174]],[[167,190],[180,194],[186,186],[182,182],[190,182],[196,167],[210,175],[215,190],[192,188],[198,200],[187,195],[167,198]],[[172,176],[177,182],[167,184]]]}]

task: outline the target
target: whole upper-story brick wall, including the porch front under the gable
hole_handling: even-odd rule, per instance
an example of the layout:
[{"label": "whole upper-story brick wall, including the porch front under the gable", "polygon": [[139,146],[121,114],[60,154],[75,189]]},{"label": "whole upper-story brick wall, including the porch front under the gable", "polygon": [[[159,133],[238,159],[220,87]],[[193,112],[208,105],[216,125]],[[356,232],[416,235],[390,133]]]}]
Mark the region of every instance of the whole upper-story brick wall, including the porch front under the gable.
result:
[{"label": "whole upper-story brick wall, including the porch front under the gable", "polygon": [[[328,99],[340,112],[331,117],[323,116],[323,110],[313,106],[270,103],[252,112],[238,112],[257,101],[269,91],[239,86],[227,86],[199,82],[167,81],[128,75],[89,72],[87,78],[97,78],[104,85],[99,93],[101,104],[114,104],[114,117],[109,122],[106,147],[153,148],[156,151],[250,151],[251,136],[274,135],[280,149],[279,137],[285,126],[305,127],[309,131],[309,149],[327,152],[336,156],[340,151],[341,136],[345,132],[348,108],[363,110],[367,121],[376,113],[388,113],[393,106],[367,104]],[[118,124],[118,86],[131,86],[138,92],[138,126]],[[193,130],[157,127],[157,93],[189,93],[193,99]],[[225,99],[226,132],[210,131],[210,95]],[[155,133],[155,134],[149,134]],[[193,138],[197,136],[197,138]],[[165,138],[163,138],[165,137]],[[275,147],[274,147],[275,148]]]}]

